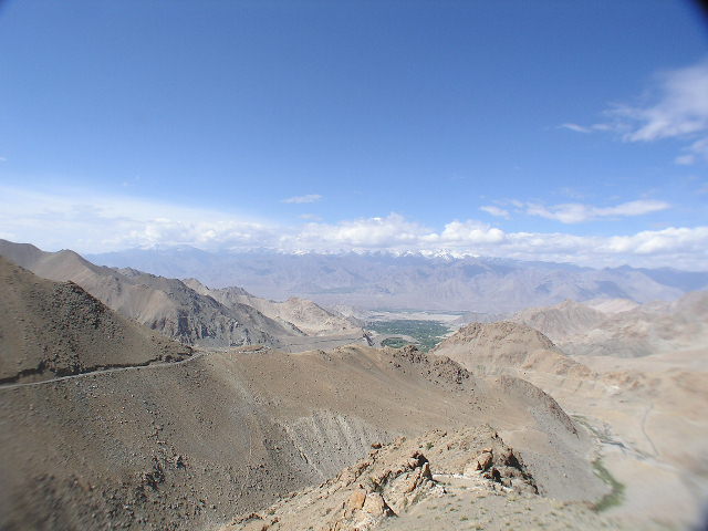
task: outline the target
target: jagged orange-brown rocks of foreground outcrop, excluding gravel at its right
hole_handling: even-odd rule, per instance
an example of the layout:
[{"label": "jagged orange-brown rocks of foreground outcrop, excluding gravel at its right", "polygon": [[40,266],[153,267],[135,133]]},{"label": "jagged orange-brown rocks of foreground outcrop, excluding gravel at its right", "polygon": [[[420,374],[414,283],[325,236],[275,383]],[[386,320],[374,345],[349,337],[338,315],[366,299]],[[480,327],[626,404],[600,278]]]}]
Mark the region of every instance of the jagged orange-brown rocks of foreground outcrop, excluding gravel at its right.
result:
[{"label": "jagged orange-brown rocks of foreground outcrop, excluding gravel at its right", "polygon": [[448,497],[449,477],[490,492],[538,492],[522,460],[487,426],[435,430],[376,446],[366,459],[320,487],[289,494],[262,512],[237,517],[222,530],[373,530],[427,499]]}]

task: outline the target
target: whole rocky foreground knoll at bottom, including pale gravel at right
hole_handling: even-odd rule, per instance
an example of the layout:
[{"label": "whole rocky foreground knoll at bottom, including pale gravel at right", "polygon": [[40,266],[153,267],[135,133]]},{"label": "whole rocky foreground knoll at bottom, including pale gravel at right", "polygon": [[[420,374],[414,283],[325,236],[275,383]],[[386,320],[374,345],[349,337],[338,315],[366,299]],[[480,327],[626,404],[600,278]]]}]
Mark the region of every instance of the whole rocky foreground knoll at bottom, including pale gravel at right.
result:
[{"label": "whole rocky foreground knoll at bottom, including pale gravel at right", "polygon": [[434,430],[373,444],[335,478],[219,531],[625,529],[591,503],[538,492],[522,459],[489,426]]}]

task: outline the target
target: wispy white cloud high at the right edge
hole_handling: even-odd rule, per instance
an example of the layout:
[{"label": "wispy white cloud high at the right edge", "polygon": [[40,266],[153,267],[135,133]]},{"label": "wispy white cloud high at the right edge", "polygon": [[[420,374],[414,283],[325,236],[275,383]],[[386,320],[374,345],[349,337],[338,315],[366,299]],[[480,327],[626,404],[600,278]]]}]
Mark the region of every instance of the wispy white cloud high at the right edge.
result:
[{"label": "wispy white cloud high at the right edge", "polygon": [[655,142],[677,138],[689,142],[676,164],[708,160],[708,60],[685,69],[656,75],[653,94],[642,105],[614,105],[605,112],[610,123],[559,127],[577,133],[611,131],[625,142]]}]

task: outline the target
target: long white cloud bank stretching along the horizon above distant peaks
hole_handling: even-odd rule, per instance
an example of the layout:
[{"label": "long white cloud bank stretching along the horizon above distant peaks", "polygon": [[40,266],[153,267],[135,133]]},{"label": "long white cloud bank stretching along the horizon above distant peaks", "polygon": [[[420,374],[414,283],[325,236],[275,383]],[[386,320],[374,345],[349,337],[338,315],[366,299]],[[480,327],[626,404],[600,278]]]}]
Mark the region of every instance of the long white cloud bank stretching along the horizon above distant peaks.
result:
[{"label": "long white cloud bank stretching along the horizon above distant peaks", "polygon": [[[0,210],[0,238],[31,242],[46,250],[70,248],[103,252],[190,244],[207,250],[269,248],[285,252],[446,251],[456,256],[568,261],[596,267],[631,263],[708,269],[708,227],[671,227],[600,237],[507,232],[470,219],[454,220],[441,229],[434,229],[395,212],[336,223],[304,222],[285,227],[127,197],[55,196],[2,186],[0,196],[4,201]],[[549,211],[553,208],[556,207],[550,207]],[[632,201],[601,210],[626,215],[646,208],[642,201]]]}]

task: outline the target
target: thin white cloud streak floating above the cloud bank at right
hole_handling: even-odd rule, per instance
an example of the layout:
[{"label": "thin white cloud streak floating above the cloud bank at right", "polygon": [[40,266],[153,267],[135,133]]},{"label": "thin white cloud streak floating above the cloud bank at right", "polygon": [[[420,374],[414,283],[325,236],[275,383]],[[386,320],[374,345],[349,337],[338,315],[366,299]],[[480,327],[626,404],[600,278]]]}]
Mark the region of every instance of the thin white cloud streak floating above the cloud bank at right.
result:
[{"label": "thin white cloud streak floating above the cloud bank at right", "polygon": [[597,218],[616,218],[626,216],[642,216],[645,214],[666,210],[670,205],[653,199],[638,199],[636,201],[623,202],[614,207],[595,207],[580,202],[568,202],[545,207],[539,204],[529,202],[525,205],[525,212],[530,216],[540,216],[546,219],[554,219],[562,223],[581,223]]}]

